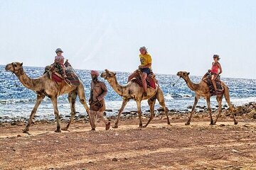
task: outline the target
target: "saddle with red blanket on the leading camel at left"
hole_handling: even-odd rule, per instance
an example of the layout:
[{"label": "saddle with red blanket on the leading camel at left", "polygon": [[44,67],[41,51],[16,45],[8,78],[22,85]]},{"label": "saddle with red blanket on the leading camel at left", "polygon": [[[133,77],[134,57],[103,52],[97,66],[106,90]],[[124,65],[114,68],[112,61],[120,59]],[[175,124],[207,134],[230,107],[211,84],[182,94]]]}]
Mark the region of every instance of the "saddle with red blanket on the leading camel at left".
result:
[{"label": "saddle with red blanket on the leading camel at left", "polygon": [[[66,61],[65,62],[65,70],[63,70],[63,67],[61,67],[59,64],[53,63],[50,64],[49,66],[46,66],[44,74],[47,72],[50,79],[56,81],[56,82],[63,82],[73,85],[73,86],[78,86],[80,84],[80,81],[78,79],[77,74],[75,74],[75,71],[71,64]],[[67,78],[63,78],[62,74],[65,72]]]}]

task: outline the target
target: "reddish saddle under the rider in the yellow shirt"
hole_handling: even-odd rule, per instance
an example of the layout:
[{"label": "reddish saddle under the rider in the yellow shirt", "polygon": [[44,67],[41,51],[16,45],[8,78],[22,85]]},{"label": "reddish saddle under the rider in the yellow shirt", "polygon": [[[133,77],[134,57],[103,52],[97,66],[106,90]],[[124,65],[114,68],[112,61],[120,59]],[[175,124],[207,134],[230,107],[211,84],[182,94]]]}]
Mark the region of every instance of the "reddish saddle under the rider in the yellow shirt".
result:
[{"label": "reddish saddle under the rider in the yellow shirt", "polygon": [[[142,71],[137,69],[134,73],[136,74],[136,76],[131,81],[136,82],[137,84],[139,84],[139,86],[142,86]],[[153,72],[150,72],[150,74],[146,77],[146,85],[148,88],[156,89],[156,87],[159,86],[155,77],[156,75]]]}]

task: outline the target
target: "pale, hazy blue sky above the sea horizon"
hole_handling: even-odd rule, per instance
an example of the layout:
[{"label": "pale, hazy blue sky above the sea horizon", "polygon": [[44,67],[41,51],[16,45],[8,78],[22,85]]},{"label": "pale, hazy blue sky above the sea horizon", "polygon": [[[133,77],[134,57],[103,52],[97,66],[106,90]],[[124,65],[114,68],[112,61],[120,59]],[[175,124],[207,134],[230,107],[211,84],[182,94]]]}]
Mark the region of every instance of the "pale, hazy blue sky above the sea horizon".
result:
[{"label": "pale, hazy blue sky above the sea horizon", "polygon": [[60,47],[74,69],[133,72],[146,46],[158,74],[256,79],[254,0],[0,0],[0,64],[45,67]]}]

